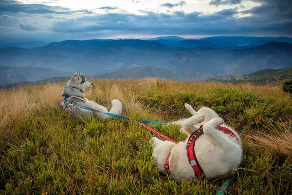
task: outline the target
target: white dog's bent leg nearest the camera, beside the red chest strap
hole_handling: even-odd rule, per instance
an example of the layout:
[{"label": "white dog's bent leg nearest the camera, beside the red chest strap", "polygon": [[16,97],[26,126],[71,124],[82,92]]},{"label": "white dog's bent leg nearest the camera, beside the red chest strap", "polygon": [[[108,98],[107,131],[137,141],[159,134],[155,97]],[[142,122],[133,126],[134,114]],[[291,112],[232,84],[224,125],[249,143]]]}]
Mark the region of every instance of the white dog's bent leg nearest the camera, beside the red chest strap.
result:
[{"label": "white dog's bent leg nearest the camera, beside the red chest strap", "polygon": [[213,118],[203,125],[203,132],[207,137],[212,139],[213,143],[217,146],[221,148],[230,148],[234,143],[228,137],[224,136],[223,132],[216,129],[216,127],[223,124],[223,122],[222,118]]}]

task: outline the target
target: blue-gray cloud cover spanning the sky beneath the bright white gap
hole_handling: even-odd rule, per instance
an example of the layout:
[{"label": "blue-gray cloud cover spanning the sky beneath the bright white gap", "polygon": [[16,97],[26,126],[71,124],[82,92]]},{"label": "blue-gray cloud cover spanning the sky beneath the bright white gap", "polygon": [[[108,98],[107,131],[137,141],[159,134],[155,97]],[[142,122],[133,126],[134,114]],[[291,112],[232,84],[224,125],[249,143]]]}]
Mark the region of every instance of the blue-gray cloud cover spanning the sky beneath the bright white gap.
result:
[{"label": "blue-gray cloud cover spanning the sky beneath the bright white gap", "polygon": [[[290,0],[249,1],[258,2],[260,5],[248,10],[244,9],[250,6],[246,6],[247,8],[240,8],[240,5],[228,6],[233,8],[222,10],[218,7],[219,11],[211,14],[171,10],[159,13],[149,9],[139,10],[139,14],[126,11],[112,13],[110,10],[121,8],[109,6],[98,8],[102,13],[96,14],[95,10],[74,11],[64,7],[43,7],[39,4],[33,6],[0,0],[0,41],[33,39],[56,41],[139,35],[292,36]],[[8,5],[11,10],[7,8]],[[41,9],[51,11],[40,11]],[[21,11],[18,12],[19,10]],[[238,18],[238,15],[241,18]]]}]

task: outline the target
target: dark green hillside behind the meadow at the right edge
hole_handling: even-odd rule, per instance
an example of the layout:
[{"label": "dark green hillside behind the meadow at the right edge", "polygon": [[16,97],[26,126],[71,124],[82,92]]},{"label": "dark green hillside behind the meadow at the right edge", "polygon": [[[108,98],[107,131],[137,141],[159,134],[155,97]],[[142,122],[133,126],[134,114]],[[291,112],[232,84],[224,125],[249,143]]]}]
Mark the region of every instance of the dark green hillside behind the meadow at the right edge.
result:
[{"label": "dark green hillside behind the meadow at the right edge", "polygon": [[240,77],[222,77],[214,78],[213,80],[219,80],[220,82],[230,82],[235,84],[252,83],[256,85],[279,85],[281,81],[286,78],[292,78],[292,67],[283,69],[264,69]]}]

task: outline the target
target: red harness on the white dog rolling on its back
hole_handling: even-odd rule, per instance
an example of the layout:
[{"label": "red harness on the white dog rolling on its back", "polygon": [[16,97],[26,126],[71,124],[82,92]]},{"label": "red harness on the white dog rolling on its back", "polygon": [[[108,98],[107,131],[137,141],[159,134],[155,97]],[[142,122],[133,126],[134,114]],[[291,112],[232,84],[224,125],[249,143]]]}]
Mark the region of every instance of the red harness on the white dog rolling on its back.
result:
[{"label": "red harness on the white dog rolling on its back", "polygon": [[[232,131],[227,129],[226,127],[217,126],[217,129],[221,130],[225,134],[229,134],[231,137],[235,137],[237,139],[238,143],[240,143],[238,137]],[[198,162],[197,157],[196,157],[195,143],[196,143],[196,140],[198,139],[198,137],[200,137],[203,133],[204,133],[203,132],[203,125],[201,125],[200,128],[189,137],[187,144],[186,144],[186,150],[187,150],[187,154],[189,157],[189,161],[190,161],[190,164],[192,165],[197,177],[203,176],[203,170],[201,169],[201,166],[199,165],[199,162]],[[171,155],[171,152],[169,152],[166,163],[164,164],[165,171],[169,174],[170,174],[170,172],[169,172],[169,156],[170,155]]]}]

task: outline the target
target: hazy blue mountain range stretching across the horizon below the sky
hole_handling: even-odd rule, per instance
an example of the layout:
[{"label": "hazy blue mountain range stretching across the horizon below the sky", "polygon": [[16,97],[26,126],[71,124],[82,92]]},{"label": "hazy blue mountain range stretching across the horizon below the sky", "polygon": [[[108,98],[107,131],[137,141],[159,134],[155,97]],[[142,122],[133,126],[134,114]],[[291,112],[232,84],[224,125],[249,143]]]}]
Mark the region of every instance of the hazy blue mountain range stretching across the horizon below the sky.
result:
[{"label": "hazy blue mountain range stretching across the horizon below the sky", "polygon": [[[6,47],[0,49],[0,66],[40,67],[65,73],[78,69],[84,75],[108,73],[115,78],[118,75],[129,78],[130,74],[137,71],[142,73],[143,68],[148,67],[151,70],[148,72],[150,75],[156,77],[160,72],[159,77],[172,78],[176,75],[177,79],[240,76],[262,69],[292,66],[292,43],[288,43],[292,42],[291,38],[229,38],[211,37],[196,40],[171,36],[155,40],[66,40],[32,49]],[[253,45],[268,39],[287,42]],[[129,71],[133,68],[136,69]],[[22,71],[23,74],[25,72]],[[5,81],[11,80],[11,77],[2,75]],[[17,79],[22,78],[32,77],[22,75]]]}]

